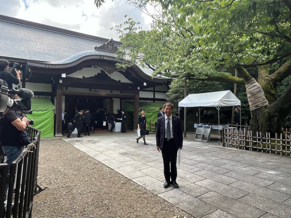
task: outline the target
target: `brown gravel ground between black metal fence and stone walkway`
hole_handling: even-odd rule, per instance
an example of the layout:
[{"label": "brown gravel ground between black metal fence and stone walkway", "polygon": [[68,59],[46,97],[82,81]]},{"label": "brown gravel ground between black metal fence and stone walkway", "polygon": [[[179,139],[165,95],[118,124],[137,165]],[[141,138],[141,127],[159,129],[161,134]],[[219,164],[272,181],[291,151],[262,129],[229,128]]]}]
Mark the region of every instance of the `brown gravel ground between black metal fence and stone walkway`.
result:
[{"label": "brown gravel ground between black metal fence and stone walkway", "polygon": [[40,142],[38,217],[193,217],[63,140]]}]

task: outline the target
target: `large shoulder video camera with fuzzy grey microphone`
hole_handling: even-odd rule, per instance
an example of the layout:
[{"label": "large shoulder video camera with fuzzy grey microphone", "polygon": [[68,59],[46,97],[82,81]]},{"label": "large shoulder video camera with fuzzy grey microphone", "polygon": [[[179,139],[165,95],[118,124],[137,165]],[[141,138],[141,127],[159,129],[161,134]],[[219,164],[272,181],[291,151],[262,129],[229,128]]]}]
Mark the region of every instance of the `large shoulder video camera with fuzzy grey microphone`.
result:
[{"label": "large shoulder video camera with fuzzy grey microphone", "polygon": [[[19,96],[19,99],[11,99],[8,95]],[[33,92],[29,89],[19,89],[19,90],[8,90],[8,85],[6,81],[0,79],[0,118],[4,117],[3,112],[5,112],[8,107],[11,110],[19,111],[21,113],[28,112],[31,110],[31,99],[33,97]]]}]

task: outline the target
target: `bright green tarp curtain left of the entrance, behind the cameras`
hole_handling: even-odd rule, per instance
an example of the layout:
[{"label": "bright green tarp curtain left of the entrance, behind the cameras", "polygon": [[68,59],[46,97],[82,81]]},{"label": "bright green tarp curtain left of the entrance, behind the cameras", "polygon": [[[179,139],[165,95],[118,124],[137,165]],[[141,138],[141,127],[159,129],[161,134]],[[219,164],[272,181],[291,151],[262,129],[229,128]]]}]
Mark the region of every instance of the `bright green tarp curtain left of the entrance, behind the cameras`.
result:
[{"label": "bright green tarp curtain left of the entrance, behind the cameras", "polygon": [[33,128],[40,130],[40,137],[54,137],[54,105],[48,98],[32,98],[32,114],[27,119],[33,119]]}]

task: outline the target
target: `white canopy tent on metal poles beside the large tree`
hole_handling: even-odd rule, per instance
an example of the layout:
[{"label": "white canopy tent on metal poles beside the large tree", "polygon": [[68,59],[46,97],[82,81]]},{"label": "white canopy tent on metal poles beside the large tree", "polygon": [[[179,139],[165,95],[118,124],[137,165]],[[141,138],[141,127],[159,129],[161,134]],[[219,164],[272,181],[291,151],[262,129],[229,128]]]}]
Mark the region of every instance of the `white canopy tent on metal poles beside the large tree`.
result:
[{"label": "white canopy tent on metal poles beside the large tree", "polygon": [[[186,98],[178,104],[179,107],[198,107],[199,109],[199,123],[200,110],[202,107],[216,107],[218,110],[218,126],[219,126],[219,109],[224,106],[240,106],[239,99],[230,91],[207,92],[200,94],[189,94]],[[239,107],[238,107],[239,108]],[[239,108],[240,109],[240,108]],[[186,117],[184,118],[186,124]],[[240,124],[241,124],[240,115]]]}]

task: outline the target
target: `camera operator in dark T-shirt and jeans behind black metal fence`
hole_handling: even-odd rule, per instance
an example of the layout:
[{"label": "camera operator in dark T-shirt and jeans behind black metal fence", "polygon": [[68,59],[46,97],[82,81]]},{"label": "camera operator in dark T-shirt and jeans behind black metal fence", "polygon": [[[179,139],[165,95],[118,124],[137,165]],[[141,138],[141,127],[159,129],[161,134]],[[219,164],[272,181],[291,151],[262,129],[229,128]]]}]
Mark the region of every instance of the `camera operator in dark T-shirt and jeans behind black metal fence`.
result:
[{"label": "camera operator in dark T-shirt and jeans behind black metal fence", "polygon": [[[29,125],[26,117],[21,119],[16,111],[10,110],[8,107],[3,115],[4,117],[0,119],[0,143],[6,156],[9,173],[10,164],[22,153],[24,146],[32,141],[25,130],[26,126]],[[5,195],[8,186],[7,184]]]}]

